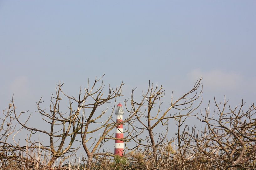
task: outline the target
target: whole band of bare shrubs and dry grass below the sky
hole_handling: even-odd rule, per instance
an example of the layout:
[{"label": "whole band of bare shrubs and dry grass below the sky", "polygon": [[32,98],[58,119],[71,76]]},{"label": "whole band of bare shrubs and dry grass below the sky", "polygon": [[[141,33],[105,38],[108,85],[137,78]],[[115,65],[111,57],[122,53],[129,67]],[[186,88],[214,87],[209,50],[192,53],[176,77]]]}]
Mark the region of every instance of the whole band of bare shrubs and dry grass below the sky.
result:
[{"label": "whole band of bare shrubs and dry grass below the sky", "polygon": [[[256,169],[256,107],[252,104],[244,109],[242,100],[239,107],[231,108],[226,99],[223,103],[215,100],[217,111],[211,114],[209,104],[198,114],[201,80],[180,98],[174,100],[172,95],[168,108],[162,108],[162,86],[149,82],[141,100],[134,99],[132,90],[130,100],[125,101],[129,115],[118,123],[113,117],[115,107],[111,108],[111,114],[106,114],[107,103],[122,95],[123,83],[115,89],[109,86],[105,94],[101,79],[91,86],[88,80],[87,87],[79,90],[78,98],[66,95],[62,86],[58,83],[49,110],[42,108],[42,98],[37,103],[36,113],[49,124],[49,129],[30,127],[30,115],[22,119],[28,111],[18,113],[14,100],[3,110],[0,169]],[[62,111],[64,99],[68,101],[68,111]],[[187,126],[185,121],[192,117],[205,126]],[[170,121],[177,125],[174,138],[167,138]],[[111,130],[119,124],[127,127],[122,140],[129,143],[123,157],[104,148],[107,141],[116,139]],[[20,130],[29,134],[24,145],[14,138]],[[49,141],[34,141],[39,134],[47,136]],[[75,143],[81,143],[86,153],[84,158],[76,157]],[[71,157],[76,161],[69,161]]]}]

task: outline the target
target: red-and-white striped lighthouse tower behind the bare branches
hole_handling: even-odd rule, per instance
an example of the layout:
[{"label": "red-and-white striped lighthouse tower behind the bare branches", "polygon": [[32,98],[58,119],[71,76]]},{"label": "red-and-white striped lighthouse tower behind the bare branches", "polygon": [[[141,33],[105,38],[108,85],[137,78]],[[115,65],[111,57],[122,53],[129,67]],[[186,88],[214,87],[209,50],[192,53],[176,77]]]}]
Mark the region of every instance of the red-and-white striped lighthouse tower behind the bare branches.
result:
[{"label": "red-and-white striped lighthouse tower behind the bare branches", "polygon": [[[117,115],[117,123],[118,122],[122,122],[123,121],[123,106],[121,103],[119,103],[117,105],[117,109],[116,109],[116,115]],[[116,138],[118,139],[122,139],[123,138],[123,124],[120,124],[117,126],[116,128]],[[121,140],[115,140],[115,155],[120,155],[123,156],[123,141]]]}]

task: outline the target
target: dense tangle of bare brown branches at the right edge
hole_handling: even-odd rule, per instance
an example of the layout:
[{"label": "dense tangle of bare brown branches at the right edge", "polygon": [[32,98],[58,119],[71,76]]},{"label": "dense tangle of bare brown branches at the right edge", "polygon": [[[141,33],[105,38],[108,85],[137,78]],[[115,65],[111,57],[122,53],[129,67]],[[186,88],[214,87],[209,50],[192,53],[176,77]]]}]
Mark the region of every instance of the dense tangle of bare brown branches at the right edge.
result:
[{"label": "dense tangle of bare brown branches at the right edge", "polygon": [[[256,108],[250,105],[243,111],[245,103],[232,109],[224,103],[217,103],[217,115],[210,116],[209,106],[201,113],[206,126],[190,134],[192,138],[189,153],[196,161],[207,164],[208,169],[235,170],[256,168]],[[215,113],[215,112],[214,112]]]}]

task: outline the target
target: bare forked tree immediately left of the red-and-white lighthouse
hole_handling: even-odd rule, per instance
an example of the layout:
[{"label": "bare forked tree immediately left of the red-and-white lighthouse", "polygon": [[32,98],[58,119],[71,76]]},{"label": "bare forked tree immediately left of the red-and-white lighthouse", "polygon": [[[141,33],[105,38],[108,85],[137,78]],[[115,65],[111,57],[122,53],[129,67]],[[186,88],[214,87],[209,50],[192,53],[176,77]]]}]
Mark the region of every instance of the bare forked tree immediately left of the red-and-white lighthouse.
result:
[{"label": "bare forked tree immediately left of the red-and-white lighthouse", "polygon": [[[133,114],[130,114],[128,118],[123,120],[122,122],[116,122],[115,120],[113,120],[113,112],[115,109],[114,107],[112,107],[112,112],[107,117],[107,108],[102,111],[98,111],[99,106],[107,104],[111,100],[114,100],[117,97],[121,96],[122,86],[124,85],[122,82],[121,85],[115,89],[112,89],[109,86],[107,95],[104,95],[103,81],[101,82],[101,85],[98,88],[96,88],[96,85],[100,80],[101,79],[96,79],[91,87],[89,87],[88,80],[88,85],[85,89],[85,94],[83,95],[83,97],[81,97],[82,94],[80,91],[78,100],[69,97],[71,100],[75,100],[77,103],[79,103],[80,107],[82,108],[81,121],[79,121],[79,123],[81,124],[81,143],[87,155],[87,169],[91,167],[92,159],[94,157],[100,155],[114,156],[114,154],[111,152],[100,152],[100,148],[103,146],[106,140],[116,139],[113,135],[110,134],[112,129],[116,128],[120,124],[129,123],[133,118]],[[91,100],[91,102],[88,102],[89,100]],[[104,121],[102,121],[104,115],[106,118]],[[98,127],[89,130],[89,127],[95,127],[95,124],[98,124]],[[98,138],[95,135],[88,135],[97,132],[100,133]],[[91,140],[92,138],[94,138],[94,142],[92,144],[89,144],[88,141]],[[125,138],[123,140],[125,140]]]}]

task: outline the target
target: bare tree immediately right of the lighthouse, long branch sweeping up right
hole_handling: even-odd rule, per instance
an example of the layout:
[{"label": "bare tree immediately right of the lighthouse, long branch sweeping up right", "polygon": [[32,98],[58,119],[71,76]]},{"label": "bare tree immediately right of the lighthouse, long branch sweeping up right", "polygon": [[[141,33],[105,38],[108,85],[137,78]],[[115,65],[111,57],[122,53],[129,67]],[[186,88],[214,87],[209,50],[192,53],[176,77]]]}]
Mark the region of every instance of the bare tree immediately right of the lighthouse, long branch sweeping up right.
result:
[{"label": "bare tree immediately right of the lighthouse, long branch sweeping up right", "polygon": [[[138,134],[146,131],[148,134],[146,138],[141,139],[138,136],[131,136],[133,141],[136,143],[136,149],[144,148],[142,150],[148,150],[148,159],[154,161],[155,167],[158,165],[158,147],[165,145],[166,141],[166,133],[158,133],[155,131],[155,127],[161,124],[162,127],[167,129],[166,125],[168,124],[169,119],[179,120],[179,129],[181,124],[185,121],[185,117],[189,117],[192,115],[193,111],[199,107],[197,104],[195,107],[193,106],[193,102],[199,99],[201,92],[197,94],[197,91],[200,87],[201,79],[196,82],[194,87],[183,94],[179,99],[173,100],[173,95],[170,101],[170,107],[165,109],[164,111],[161,108],[162,97],[164,96],[164,90],[162,86],[156,87],[153,84],[150,84],[146,93],[143,93],[143,98],[139,102],[134,101],[132,91],[131,95],[131,107],[129,110],[130,113],[133,113],[139,123],[139,125],[133,125]],[[178,113],[171,114],[170,110],[175,109]],[[182,113],[181,113],[182,112]],[[184,112],[184,113],[183,113]],[[141,127],[140,127],[141,126]],[[157,138],[155,136],[158,135]],[[180,145],[180,132],[178,131],[178,140]],[[169,142],[168,142],[169,143]],[[152,150],[151,150],[152,149]],[[140,149],[139,149],[140,150]],[[141,150],[140,150],[141,151]],[[152,156],[151,156],[152,155]]]}]

